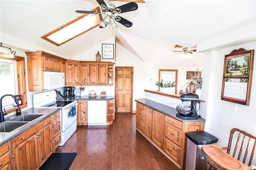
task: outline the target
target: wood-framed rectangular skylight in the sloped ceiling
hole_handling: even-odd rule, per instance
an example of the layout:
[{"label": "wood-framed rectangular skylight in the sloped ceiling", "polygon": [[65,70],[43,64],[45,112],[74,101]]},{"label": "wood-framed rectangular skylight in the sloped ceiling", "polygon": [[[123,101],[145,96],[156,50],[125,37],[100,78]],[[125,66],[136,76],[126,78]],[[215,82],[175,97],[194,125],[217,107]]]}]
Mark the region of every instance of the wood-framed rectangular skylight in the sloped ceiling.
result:
[{"label": "wood-framed rectangular skylight in the sloped ceiling", "polygon": [[[100,8],[97,7],[92,11],[100,12]],[[101,19],[101,14],[83,14],[50,33],[43,35],[41,38],[59,46],[99,26]]]}]

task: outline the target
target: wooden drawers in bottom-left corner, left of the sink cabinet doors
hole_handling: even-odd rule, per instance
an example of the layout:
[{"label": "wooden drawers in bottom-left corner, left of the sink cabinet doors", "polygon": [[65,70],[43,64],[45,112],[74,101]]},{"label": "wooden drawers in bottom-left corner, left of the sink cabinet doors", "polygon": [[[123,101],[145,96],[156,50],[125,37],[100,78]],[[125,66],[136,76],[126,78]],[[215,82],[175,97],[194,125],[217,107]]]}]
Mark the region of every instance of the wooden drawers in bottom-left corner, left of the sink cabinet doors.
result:
[{"label": "wooden drawers in bottom-left corner, left of the sink cabinet doors", "polygon": [[11,170],[11,158],[8,142],[0,146],[0,169]]}]

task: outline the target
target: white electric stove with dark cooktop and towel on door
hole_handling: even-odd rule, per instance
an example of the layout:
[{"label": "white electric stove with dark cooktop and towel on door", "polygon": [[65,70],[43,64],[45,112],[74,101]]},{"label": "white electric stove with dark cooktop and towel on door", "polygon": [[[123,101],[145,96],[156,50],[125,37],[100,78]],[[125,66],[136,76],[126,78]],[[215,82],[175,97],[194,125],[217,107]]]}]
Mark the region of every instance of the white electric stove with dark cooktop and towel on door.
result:
[{"label": "white electric stove with dark cooktop and towel on door", "polygon": [[61,143],[63,146],[66,141],[76,131],[77,126],[77,102],[76,101],[58,101],[55,90],[33,94],[34,108],[61,108],[60,127]]}]

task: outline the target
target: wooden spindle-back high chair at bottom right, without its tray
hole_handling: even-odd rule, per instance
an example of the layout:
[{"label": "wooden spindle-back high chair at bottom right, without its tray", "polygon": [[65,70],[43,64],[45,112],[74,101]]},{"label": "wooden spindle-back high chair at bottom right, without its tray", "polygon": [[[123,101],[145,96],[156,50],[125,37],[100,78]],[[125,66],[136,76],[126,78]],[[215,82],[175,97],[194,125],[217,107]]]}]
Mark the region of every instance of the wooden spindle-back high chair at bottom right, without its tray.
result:
[{"label": "wooden spindle-back high chair at bottom right, without its tray", "polygon": [[[246,144],[246,150],[245,150],[244,157],[243,157],[243,163],[245,164],[245,162],[246,162],[247,155],[248,155],[248,150],[250,148],[250,142],[252,141],[252,143],[254,143],[254,144],[253,144],[253,147],[252,147],[252,150],[251,150],[251,155],[250,155],[250,159],[249,159],[249,162],[248,162],[248,166],[249,166],[250,169],[256,169],[256,165],[251,165],[252,158],[253,158],[254,151],[255,151],[255,146],[256,146],[256,136],[253,136],[252,134],[247,133],[245,131],[242,131],[242,130],[240,130],[238,128],[233,128],[230,131],[229,140],[228,140],[228,146],[227,147],[223,147],[222,149],[223,150],[227,150],[227,153],[230,155],[230,150],[231,150],[231,145],[232,145],[232,140],[233,140],[233,134],[235,132],[239,132],[239,134],[238,134],[236,145],[234,146],[232,157],[235,158],[235,156],[237,154],[238,144],[239,144],[239,141],[240,141],[240,138],[241,138],[241,134],[242,134],[243,140],[242,140],[242,143],[241,143],[241,147],[239,149],[238,157],[236,159],[240,161],[241,155],[242,155],[242,152],[243,152],[243,149],[244,149],[245,139],[248,138],[248,142]],[[254,142],[253,142],[253,140],[254,140]],[[213,161],[209,160],[208,164],[210,165],[208,167],[209,170],[211,170],[211,169],[218,169],[218,168],[215,167],[215,163]]]}]

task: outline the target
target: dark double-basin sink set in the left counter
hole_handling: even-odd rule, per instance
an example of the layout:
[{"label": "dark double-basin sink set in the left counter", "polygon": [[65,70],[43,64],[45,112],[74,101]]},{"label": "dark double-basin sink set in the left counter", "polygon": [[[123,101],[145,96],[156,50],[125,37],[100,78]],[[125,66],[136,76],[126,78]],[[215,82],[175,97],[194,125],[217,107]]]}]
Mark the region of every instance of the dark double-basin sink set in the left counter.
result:
[{"label": "dark double-basin sink set in the left counter", "polygon": [[16,129],[21,128],[32,120],[39,118],[42,115],[44,114],[22,114],[20,116],[11,118],[0,124],[0,133],[10,133]]}]

